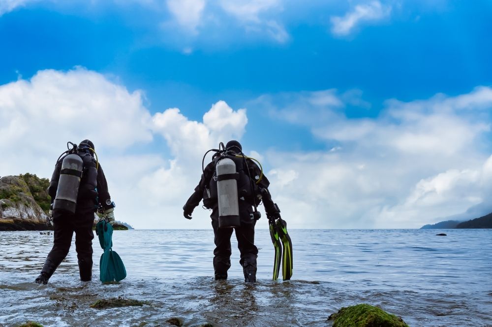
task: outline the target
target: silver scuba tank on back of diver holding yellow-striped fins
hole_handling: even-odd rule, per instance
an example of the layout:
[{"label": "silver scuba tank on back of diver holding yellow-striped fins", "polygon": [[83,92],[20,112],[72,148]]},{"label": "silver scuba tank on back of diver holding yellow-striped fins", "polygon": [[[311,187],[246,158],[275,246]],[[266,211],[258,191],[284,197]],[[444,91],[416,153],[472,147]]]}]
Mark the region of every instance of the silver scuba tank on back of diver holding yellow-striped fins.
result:
[{"label": "silver scuba tank on back of diver holding yellow-striped fins", "polygon": [[236,163],[229,158],[219,160],[217,174],[218,227],[241,226],[238,203],[238,173]]}]

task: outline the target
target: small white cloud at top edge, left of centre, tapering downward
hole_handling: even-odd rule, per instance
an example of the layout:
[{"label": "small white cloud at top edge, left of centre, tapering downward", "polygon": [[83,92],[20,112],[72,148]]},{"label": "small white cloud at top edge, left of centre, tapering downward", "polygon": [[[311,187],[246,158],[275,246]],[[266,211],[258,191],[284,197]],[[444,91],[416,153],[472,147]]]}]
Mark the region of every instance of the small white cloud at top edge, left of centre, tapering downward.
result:
[{"label": "small white cloud at top edge, left of centre, tapering downward", "polygon": [[195,33],[202,19],[205,0],[167,0],[166,3],[176,21],[185,29]]}]

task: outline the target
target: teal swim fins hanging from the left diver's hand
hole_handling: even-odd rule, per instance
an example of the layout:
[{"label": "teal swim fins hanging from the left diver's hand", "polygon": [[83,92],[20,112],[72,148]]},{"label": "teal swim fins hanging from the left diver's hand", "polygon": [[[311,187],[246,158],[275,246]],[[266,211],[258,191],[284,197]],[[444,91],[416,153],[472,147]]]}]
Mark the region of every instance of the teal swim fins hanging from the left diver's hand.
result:
[{"label": "teal swim fins hanging from the left diver's hand", "polygon": [[118,253],[113,251],[113,227],[105,220],[99,221],[95,227],[99,243],[104,253],[99,260],[99,279],[103,283],[121,281],[126,277],[126,269]]}]

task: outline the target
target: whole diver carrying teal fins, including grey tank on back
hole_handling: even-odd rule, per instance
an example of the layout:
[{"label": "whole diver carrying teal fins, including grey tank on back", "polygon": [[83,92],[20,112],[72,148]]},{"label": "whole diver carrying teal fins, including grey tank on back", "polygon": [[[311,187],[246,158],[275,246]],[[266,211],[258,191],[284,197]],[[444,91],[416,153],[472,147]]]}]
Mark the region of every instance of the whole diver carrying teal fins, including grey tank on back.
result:
[{"label": "whole diver carrying teal fins, including grey tank on back", "polygon": [[[68,144],[72,145],[71,149]],[[37,284],[48,283],[58,265],[67,256],[74,232],[80,280],[90,281],[94,212],[99,209],[103,218],[111,225],[115,220],[115,204],[111,201],[94,144],[86,139],[79,145],[68,142],[67,148],[57,160],[48,187],[54,245],[44,262],[41,274],[35,280]]]}]

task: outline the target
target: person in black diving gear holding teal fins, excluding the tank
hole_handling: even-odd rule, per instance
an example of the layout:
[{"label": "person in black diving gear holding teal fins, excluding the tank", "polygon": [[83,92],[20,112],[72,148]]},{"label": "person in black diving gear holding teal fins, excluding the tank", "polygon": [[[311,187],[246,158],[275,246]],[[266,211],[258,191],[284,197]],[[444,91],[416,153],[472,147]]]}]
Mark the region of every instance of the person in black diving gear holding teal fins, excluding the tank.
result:
[{"label": "person in black diving gear holding teal fins, excluding the tank", "polygon": [[[92,225],[94,223],[94,212],[98,208],[101,208],[105,218],[111,224],[115,220],[113,213],[114,203],[111,201],[108,192],[108,184],[104,176],[104,171],[101,165],[96,163],[93,158],[94,144],[86,139],[78,147],[74,146],[73,152],[70,153],[77,153],[84,158],[83,170],[81,176],[79,176],[81,179],[75,212],[72,213],[68,210],[58,208],[53,209],[54,245],[41,269],[41,274],[35,280],[38,284],[47,284],[58,265],[65,259],[70,249],[74,232],[80,280],[90,281],[92,278],[92,239],[94,238]],[[60,174],[63,173],[62,161],[65,157],[58,160],[48,188],[52,207],[57,196],[59,181],[61,180]],[[88,173],[90,169],[93,169],[97,173]],[[68,171],[68,173],[71,172]]]}]

